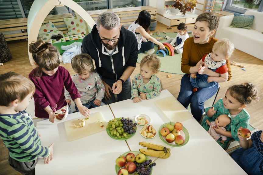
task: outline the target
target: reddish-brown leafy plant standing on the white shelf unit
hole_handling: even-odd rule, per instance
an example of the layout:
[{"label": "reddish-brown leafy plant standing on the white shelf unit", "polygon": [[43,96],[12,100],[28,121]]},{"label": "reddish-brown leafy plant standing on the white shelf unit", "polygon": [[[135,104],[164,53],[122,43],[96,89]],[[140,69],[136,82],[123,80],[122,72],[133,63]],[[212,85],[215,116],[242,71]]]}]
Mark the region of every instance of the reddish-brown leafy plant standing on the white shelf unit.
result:
[{"label": "reddish-brown leafy plant standing on the white shelf unit", "polygon": [[174,3],[175,9],[179,9],[179,11],[182,13],[182,16],[185,16],[186,12],[191,12],[191,10],[195,8],[197,0],[175,0]]}]

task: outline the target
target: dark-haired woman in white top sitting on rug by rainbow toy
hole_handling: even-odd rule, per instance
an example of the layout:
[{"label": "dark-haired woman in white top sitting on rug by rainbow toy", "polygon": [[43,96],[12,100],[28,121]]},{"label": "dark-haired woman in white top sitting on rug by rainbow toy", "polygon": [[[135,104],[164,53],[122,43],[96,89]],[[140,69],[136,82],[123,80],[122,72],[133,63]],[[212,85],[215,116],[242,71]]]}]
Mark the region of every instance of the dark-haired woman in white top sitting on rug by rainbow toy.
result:
[{"label": "dark-haired woman in white top sitting on rug by rainbow toy", "polygon": [[128,30],[132,31],[138,42],[138,53],[146,52],[147,50],[149,54],[154,53],[154,44],[160,46],[162,50],[165,50],[165,47],[162,43],[157,41],[155,38],[149,35],[149,26],[151,23],[151,14],[146,10],[142,10],[139,13],[138,18],[135,22],[133,22]]}]

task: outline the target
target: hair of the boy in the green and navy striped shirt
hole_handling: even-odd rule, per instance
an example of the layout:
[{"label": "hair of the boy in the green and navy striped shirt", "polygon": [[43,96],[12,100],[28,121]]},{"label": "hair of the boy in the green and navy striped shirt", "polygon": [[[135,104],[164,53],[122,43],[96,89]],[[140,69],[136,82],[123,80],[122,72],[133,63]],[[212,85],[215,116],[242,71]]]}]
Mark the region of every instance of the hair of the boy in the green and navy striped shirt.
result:
[{"label": "hair of the boy in the green and navy striped shirt", "polygon": [[23,101],[28,94],[35,93],[33,82],[14,72],[1,74],[0,84],[0,106],[9,106],[16,99]]}]

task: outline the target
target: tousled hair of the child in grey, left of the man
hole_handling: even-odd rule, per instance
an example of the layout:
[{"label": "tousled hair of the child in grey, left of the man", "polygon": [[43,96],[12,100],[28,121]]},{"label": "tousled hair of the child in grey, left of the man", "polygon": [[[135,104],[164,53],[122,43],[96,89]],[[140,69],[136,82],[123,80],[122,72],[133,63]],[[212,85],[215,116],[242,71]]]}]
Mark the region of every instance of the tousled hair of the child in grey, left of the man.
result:
[{"label": "tousled hair of the child in grey, left of the man", "polygon": [[82,53],[73,57],[71,59],[71,66],[76,74],[83,74],[87,70],[89,72],[94,70],[92,58],[86,53]]}]

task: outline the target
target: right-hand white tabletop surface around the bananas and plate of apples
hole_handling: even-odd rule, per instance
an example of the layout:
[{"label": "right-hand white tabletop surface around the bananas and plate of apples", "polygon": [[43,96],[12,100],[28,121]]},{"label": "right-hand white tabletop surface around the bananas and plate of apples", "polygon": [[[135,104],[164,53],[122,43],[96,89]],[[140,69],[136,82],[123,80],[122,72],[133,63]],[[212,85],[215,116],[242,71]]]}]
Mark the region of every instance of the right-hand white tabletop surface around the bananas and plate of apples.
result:
[{"label": "right-hand white tabletop surface around the bananas and plate of apples", "polygon": [[[169,122],[169,120],[154,104],[154,101],[169,96],[172,96],[172,94],[170,94],[168,90],[164,90],[160,96],[151,100],[142,100],[142,102],[139,103],[133,103],[132,100],[125,100],[110,104],[110,108],[116,118],[134,118],[138,114],[149,115],[151,118],[150,124],[152,124],[158,132],[159,127]],[[182,106],[182,108],[184,107]],[[156,160],[153,175],[246,174],[194,118],[190,118],[182,122],[182,124],[188,130],[190,139],[186,145],[181,147],[166,145],[160,140],[159,135],[153,139],[143,138],[140,134],[140,126],[138,126],[135,136],[127,140],[132,151],[139,151],[140,148],[145,148],[139,145],[141,141],[153,142],[171,148],[171,156],[168,159]],[[151,159],[155,160],[155,157],[151,157]]]}]

